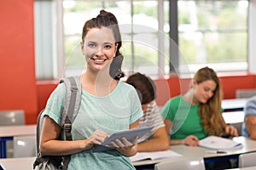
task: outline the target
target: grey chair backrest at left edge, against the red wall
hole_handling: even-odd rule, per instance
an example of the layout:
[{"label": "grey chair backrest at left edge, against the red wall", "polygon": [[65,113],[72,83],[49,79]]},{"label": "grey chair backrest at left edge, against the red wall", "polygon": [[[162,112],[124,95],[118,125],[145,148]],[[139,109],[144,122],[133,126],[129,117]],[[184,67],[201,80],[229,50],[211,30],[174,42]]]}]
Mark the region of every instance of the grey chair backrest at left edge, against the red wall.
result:
[{"label": "grey chair backrest at left edge, against the red wall", "polygon": [[25,125],[24,111],[0,111],[0,126]]}]

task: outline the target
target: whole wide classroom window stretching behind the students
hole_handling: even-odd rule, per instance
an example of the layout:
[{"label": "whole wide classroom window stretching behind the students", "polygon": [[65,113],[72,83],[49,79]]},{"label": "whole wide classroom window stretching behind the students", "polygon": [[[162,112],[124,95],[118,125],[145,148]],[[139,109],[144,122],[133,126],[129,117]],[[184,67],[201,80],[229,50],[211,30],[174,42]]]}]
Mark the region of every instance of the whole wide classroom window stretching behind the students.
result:
[{"label": "whole wide classroom window stretching behind the students", "polygon": [[[171,0],[35,2],[53,3],[51,13],[46,12],[52,14],[52,21],[49,22],[53,30],[48,31],[48,35],[53,41],[45,43],[48,47],[36,49],[38,63],[47,65],[37,65],[38,79],[46,72],[48,74],[43,78],[41,76],[41,79],[77,75],[84,71],[84,57],[79,48],[82,27],[85,20],[95,17],[102,8],[113,12],[119,20],[124,42],[123,70],[128,74],[141,71],[150,76],[168,75],[172,66],[179,73],[190,73],[203,65],[209,65],[216,71],[248,70],[247,0],[178,0],[174,7],[177,14],[170,10]],[[38,11],[37,8],[35,10]],[[170,23],[173,18],[169,20],[171,15],[177,17],[177,23],[174,22],[172,26]],[[44,18],[49,19],[47,16]],[[59,21],[58,25],[55,25],[56,20]],[[40,29],[44,30],[44,26],[48,25],[41,26]],[[170,38],[170,31],[174,28],[177,28],[177,40]],[[178,53],[172,49],[172,44],[176,45]],[[49,59],[37,52],[47,48],[52,49],[44,55]]]}]

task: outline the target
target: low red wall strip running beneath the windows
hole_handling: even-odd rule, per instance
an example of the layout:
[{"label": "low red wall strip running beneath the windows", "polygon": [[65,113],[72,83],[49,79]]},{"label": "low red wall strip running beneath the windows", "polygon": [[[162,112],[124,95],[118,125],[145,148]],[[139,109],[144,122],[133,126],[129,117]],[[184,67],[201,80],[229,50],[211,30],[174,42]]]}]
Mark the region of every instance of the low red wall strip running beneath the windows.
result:
[{"label": "low red wall strip running beneath the windows", "polygon": [[[224,99],[236,98],[236,89],[256,88],[256,75],[247,72],[218,73],[222,83]],[[166,101],[189,89],[191,78],[176,76],[155,79],[158,105],[165,105]],[[38,82],[38,108],[44,109],[49,94],[58,82]]]}]

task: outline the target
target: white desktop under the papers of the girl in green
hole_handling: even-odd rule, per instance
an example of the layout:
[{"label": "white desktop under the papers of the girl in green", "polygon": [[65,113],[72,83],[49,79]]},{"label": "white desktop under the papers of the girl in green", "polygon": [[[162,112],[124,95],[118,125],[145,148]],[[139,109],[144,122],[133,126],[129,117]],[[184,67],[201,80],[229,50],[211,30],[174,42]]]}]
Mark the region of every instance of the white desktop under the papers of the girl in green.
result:
[{"label": "white desktop under the papers of the girl in green", "polygon": [[[208,153],[206,148],[202,147],[192,147],[183,144],[172,145],[171,150],[181,154],[182,158],[191,158],[191,157],[203,157],[205,160],[217,158],[217,157],[224,157],[224,156],[239,156],[240,154],[256,151],[256,140],[247,139],[243,136],[233,138],[236,142],[243,144],[241,148],[236,148],[232,150],[227,150],[227,153],[224,154],[213,154]],[[172,158],[172,159],[180,159],[180,158]],[[154,160],[154,161],[136,161],[133,162],[134,166],[144,166],[159,163],[162,161],[168,161],[170,159],[164,160]],[[152,167],[152,166],[151,166]]]}]

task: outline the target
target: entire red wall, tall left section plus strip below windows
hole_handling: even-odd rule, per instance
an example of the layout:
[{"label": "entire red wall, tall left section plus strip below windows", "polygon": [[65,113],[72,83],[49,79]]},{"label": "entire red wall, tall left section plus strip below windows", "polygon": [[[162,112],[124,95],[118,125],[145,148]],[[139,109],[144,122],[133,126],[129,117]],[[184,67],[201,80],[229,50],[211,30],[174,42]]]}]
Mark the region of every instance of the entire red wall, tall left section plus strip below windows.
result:
[{"label": "entire red wall, tall left section plus strip below windows", "polygon": [[[35,78],[33,2],[4,0],[0,6],[0,110],[24,110],[26,124],[36,123],[38,112],[58,83],[37,82]],[[224,99],[235,98],[236,89],[256,88],[255,74],[233,72],[219,77]],[[155,82],[157,103],[164,105],[189,88],[190,78],[172,76]]]}]

